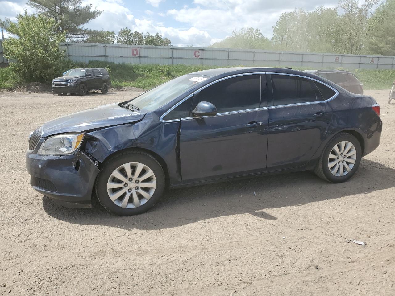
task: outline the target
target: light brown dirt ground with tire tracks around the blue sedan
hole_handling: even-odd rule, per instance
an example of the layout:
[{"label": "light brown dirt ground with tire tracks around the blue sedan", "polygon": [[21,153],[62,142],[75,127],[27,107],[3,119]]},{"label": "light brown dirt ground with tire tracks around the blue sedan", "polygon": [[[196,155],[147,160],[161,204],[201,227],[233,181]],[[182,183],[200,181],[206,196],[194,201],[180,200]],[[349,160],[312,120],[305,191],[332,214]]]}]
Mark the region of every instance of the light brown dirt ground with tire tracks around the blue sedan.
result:
[{"label": "light brown dirt ground with tire tracks around the blue sedan", "polygon": [[25,152],[44,122],[137,92],[0,92],[0,294],[395,295],[395,104],[365,93],[384,129],[350,181],[299,172],[176,189],[117,217],[38,194]]}]

